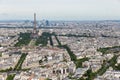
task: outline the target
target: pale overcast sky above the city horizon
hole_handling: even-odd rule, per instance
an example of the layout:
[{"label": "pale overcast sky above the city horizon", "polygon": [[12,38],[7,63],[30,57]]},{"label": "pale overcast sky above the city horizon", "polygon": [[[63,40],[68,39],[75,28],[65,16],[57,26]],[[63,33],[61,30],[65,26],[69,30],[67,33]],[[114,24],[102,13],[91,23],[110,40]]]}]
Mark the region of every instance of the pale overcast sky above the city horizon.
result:
[{"label": "pale overcast sky above the city horizon", "polygon": [[0,20],[120,19],[120,0],[0,0]]}]

